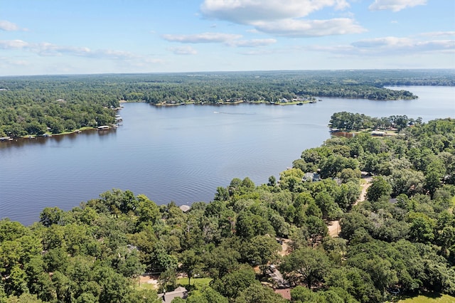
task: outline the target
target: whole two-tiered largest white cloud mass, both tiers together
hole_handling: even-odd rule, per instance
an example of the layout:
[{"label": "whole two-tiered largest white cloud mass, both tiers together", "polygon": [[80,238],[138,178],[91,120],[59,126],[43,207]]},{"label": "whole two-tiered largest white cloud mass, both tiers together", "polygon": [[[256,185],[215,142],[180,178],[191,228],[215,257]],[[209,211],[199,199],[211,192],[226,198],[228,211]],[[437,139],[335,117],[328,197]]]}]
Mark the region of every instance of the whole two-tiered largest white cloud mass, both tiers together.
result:
[{"label": "whole two-tiered largest white cloud mass, both tiers together", "polygon": [[348,7],[347,0],[288,0],[286,4],[282,0],[205,0],[200,11],[207,18],[250,25],[263,33],[304,38],[365,31],[352,17],[304,19],[321,9],[341,10]]}]

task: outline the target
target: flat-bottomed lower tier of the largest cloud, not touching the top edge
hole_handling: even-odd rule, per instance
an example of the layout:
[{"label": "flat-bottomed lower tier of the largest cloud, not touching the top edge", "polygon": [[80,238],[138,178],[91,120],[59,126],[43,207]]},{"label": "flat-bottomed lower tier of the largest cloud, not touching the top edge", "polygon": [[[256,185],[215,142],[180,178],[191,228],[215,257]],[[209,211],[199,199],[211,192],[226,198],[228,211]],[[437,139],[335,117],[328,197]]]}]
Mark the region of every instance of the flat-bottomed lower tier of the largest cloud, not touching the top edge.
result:
[{"label": "flat-bottomed lower tier of the largest cloud, not touching the top edge", "polygon": [[362,33],[365,29],[350,18],[329,20],[286,19],[277,22],[257,22],[256,28],[264,33],[292,37],[317,37]]}]

